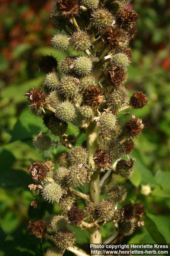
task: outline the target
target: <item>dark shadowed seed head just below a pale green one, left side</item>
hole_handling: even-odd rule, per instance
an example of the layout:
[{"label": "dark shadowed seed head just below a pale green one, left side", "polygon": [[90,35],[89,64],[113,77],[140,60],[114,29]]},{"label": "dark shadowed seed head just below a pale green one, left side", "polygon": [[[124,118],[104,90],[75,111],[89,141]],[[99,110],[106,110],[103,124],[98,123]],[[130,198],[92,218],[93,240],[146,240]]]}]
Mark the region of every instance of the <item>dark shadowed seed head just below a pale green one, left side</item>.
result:
[{"label": "dark shadowed seed head just below a pale green one, left side", "polygon": [[50,130],[51,134],[55,136],[63,135],[68,127],[68,125],[65,122],[61,122],[61,120],[59,120],[55,114],[45,115],[43,117],[43,121],[45,126]]}]

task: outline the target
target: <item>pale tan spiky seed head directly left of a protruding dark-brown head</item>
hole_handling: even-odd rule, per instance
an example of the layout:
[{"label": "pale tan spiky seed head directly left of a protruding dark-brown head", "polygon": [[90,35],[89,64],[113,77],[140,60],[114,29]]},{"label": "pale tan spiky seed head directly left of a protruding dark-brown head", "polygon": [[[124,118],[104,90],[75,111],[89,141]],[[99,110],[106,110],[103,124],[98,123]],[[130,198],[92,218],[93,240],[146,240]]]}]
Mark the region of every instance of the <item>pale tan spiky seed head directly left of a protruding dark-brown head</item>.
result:
[{"label": "pale tan spiky seed head directly left of a protruding dark-brown head", "polygon": [[106,102],[114,110],[119,110],[129,104],[129,92],[125,87],[120,86],[109,94]]}]

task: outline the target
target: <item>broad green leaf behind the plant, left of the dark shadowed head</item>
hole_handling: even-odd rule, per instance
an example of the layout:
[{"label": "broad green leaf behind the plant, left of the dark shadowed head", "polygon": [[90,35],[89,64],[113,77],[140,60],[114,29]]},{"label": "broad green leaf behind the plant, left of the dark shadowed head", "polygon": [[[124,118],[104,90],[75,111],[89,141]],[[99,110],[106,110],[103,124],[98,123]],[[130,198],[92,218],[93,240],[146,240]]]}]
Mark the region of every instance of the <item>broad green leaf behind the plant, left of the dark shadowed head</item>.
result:
[{"label": "broad green leaf behind the plant, left of the dark shadowed head", "polygon": [[29,110],[24,110],[14,126],[10,142],[31,138],[35,134],[38,135],[41,131],[47,131],[42,120],[31,116]]}]

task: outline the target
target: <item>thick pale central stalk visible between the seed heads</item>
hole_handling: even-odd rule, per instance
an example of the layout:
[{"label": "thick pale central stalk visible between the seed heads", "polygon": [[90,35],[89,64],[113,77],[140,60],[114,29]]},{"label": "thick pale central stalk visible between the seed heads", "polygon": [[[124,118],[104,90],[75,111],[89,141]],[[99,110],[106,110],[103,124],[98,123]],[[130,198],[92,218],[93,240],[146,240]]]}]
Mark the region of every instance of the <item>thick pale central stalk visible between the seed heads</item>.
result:
[{"label": "thick pale central stalk visible between the seed heads", "polygon": [[[95,168],[93,161],[93,155],[98,147],[97,144],[98,129],[96,122],[90,123],[89,127],[86,129],[86,139],[87,139],[87,148],[88,148],[88,164]],[[97,204],[100,201],[100,170],[94,172],[91,175],[91,180],[89,182],[89,194],[92,202]],[[101,243],[102,234],[100,228],[91,228],[89,230],[90,243]]]}]

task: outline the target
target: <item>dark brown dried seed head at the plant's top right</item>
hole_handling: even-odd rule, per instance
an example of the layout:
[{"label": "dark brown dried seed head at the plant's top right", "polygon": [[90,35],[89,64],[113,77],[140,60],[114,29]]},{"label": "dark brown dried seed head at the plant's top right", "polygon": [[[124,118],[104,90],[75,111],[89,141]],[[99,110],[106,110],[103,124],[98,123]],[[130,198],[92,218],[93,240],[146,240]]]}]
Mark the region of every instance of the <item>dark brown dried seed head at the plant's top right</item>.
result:
[{"label": "dark brown dried seed head at the plant's top right", "polygon": [[139,14],[134,10],[125,8],[117,13],[116,20],[123,29],[128,29],[136,25]]}]

